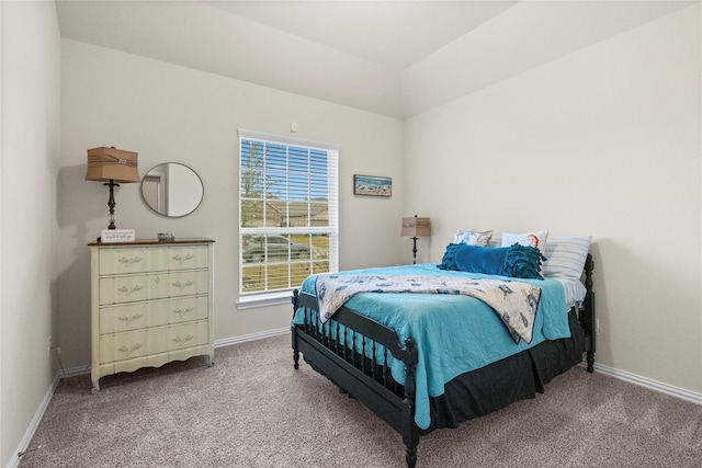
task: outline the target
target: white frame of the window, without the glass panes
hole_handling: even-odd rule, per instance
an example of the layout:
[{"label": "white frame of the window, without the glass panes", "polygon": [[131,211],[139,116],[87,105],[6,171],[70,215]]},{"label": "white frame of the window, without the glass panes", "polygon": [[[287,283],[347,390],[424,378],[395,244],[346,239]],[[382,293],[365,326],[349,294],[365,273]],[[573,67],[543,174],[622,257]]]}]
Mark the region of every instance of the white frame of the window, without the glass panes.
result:
[{"label": "white frame of the window, without the glass panes", "polygon": [[[263,144],[281,145],[285,147],[305,148],[307,150],[326,151],[327,153],[327,180],[328,180],[328,226],[305,226],[305,227],[241,227],[242,217],[242,141],[260,141]],[[271,236],[291,236],[291,235],[326,235],[329,241],[328,264],[329,273],[339,271],[339,148],[340,145],[309,140],[305,138],[290,137],[285,135],[276,135],[264,132],[249,130],[239,128],[238,130],[238,301],[237,309],[249,309],[254,307],[264,307],[270,305],[290,303],[292,290],[297,287],[283,289],[272,289],[263,292],[245,292],[244,290],[244,236],[253,235],[271,235]],[[293,198],[287,198],[292,201]],[[290,262],[293,260],[291,259]],[[310,256],[310,263],[314,259]]]}]

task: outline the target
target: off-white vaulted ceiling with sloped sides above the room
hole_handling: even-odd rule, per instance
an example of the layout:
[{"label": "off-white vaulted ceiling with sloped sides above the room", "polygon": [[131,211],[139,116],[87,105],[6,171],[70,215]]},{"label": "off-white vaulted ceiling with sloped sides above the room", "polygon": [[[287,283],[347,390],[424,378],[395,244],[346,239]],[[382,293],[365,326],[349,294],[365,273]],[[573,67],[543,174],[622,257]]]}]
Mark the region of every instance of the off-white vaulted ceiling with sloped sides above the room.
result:
[{"label": "off-white vaulted ceiling with sloped sides above the room", "polygon": [[406,118],[694,2],[56,3],[67,38]]}]

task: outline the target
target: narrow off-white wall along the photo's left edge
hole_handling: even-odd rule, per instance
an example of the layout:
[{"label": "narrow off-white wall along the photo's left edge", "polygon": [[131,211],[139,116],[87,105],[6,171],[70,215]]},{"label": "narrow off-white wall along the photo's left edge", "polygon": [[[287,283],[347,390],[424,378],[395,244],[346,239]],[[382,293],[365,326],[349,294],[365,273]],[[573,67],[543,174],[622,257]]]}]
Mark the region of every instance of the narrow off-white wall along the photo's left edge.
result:
[{"label": "narrow off-white wall along the photo's left edge", "polygon": [[48,393],[55,358],[60,38],[54,2],[0,2],[0,466]]}]

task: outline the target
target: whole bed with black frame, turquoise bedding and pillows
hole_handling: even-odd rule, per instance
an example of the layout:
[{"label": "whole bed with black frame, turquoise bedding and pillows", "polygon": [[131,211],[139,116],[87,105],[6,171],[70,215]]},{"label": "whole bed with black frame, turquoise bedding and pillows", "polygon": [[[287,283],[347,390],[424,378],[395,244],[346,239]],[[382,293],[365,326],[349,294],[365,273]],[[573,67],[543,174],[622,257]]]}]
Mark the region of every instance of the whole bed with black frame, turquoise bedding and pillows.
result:
[{"label": "whole bed with black frame, turquoise bedding and pillows", "polygon": [[[499,267],[495,274],[485,255],[513,255],[519,242],[469,246],[456,242],[457,235],[441,264],[313,275],[293,293],[294,367],[302,354],[396,430],[410,468],[421,435],[534,398],[584,355],[593,370],[590,239],[552,238],[541,249],[530,247],[530,255],[540,258],[539,274],[514,276]],[[437,282],[444,285],[439,290]],[[458,290],[456,284],[468,286]],[[488,305],[482,294],[490,287],[519,296],[529,303],[526,311],[514,320],[505,310],[517,303]]]}]

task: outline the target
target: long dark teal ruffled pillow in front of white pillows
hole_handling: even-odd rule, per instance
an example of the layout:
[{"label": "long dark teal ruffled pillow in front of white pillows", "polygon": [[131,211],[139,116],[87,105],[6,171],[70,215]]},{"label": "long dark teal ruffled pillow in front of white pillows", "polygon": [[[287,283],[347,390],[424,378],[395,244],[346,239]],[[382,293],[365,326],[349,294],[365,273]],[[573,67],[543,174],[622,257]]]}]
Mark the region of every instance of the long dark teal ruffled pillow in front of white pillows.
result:
[{"label": "long dark teal ruffled pillow in front of white pillows", "polygon": [[450,243],[439,267],[516,278],[543,279],[540,273],[542,260],[546,259],[539,249],[518,243],[498,248]]}]

